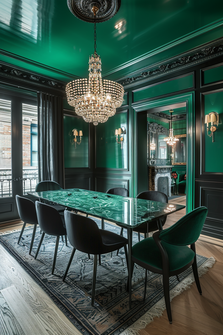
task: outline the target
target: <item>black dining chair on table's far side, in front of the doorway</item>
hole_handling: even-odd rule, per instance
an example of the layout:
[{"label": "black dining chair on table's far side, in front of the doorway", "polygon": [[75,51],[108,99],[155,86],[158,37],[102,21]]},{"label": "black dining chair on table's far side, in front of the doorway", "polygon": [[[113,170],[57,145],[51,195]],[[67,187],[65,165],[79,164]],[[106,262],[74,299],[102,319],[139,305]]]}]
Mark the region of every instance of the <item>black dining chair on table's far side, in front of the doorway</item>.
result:
[{"label": "black dining chair on table's far side, in front of the doorway", "polygon": [[[159,191],[141,192],[137,195],[136,199],[144,199],[144,200],[168,203],[167,195]],[[133,228],[133,231],[138,233],[138,241],[140,241],[140,233],[144,234],[144,238],[147,238],[149,232],[158,230],[158,226],[161,230],[165,222],[166,222],[166,216],[161,218],[160,221],[142,223],[139,226]],[[117,224],[117,225],[121,227],[120,235],[123,235],[123,228],[126,228],[126,227],[121,226],[120,224]],[[118,256],[118,253],[119,253],[119,250],[117,251],[117,256]]]}]

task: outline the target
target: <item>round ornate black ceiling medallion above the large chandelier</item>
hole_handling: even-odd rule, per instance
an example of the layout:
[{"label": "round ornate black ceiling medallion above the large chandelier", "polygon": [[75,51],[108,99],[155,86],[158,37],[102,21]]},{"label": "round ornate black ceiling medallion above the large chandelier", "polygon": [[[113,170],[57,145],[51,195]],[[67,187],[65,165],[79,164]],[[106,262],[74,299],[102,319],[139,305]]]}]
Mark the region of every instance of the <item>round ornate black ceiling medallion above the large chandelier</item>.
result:
[{"label": "round ornate black ceiling medallion above the large chandelier", "polygon": [[104,22],[119,10],[121,0],[67,0],[70,11],[79,19],[94,22],[93,7],[98,8],[96,22]]}]

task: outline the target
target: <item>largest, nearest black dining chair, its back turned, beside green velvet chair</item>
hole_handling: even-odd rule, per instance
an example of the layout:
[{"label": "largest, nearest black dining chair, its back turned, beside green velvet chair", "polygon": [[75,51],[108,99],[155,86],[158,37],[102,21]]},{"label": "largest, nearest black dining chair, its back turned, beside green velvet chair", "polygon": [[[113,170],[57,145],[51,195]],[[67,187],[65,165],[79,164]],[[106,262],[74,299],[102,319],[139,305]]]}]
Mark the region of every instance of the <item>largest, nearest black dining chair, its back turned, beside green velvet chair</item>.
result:
[{"label": "largest, nearest black dining chair, its back turned, beside green velvet chair", "polygon": [[128,240],[112,231],[99,229],[97,223],[90,217],[65,211],[67,236],[73,247],[63,281],[65,281],[76,250],[94,255],[91,306],[94,306],[95,284],[98,255],[107,254],[124,247],[128,267]]}]

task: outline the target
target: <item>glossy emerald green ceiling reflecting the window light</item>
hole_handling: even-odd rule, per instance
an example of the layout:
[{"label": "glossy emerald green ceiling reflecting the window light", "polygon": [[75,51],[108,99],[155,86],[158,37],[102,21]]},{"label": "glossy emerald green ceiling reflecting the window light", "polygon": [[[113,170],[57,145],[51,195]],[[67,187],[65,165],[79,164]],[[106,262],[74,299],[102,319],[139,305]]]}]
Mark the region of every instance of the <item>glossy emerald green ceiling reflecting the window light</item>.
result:
[{"label": "glossy emerald green ceiling reflecting the window light", "polygon": [[[123,75],[137,61],[217,27],[208,38],[218,38],[222,19],[222,0],[122,0],[112,19],[97,24],[102,75],[125,68]],[[76,18],[66,0],[0,0],[0,49],[8,53],[1,61],[65,81],[86,77],[93,39],[93,24]]]}]

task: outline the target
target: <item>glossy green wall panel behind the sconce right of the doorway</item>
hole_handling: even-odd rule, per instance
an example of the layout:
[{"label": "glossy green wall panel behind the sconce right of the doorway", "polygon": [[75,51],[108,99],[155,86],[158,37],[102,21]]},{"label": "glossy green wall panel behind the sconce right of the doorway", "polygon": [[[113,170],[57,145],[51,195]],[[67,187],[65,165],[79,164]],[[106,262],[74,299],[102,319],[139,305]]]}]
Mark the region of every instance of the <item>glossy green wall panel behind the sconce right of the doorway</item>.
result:
[{"label": "glossy green wall panel behind the sconce right of the doorway", "polygon": [[[204,131],[205,154],[204,154],[204,171],[205,172],[223,172],[223,92],[206,94],[204,96],[204,113],[217,112],[219,114],[219,124],[214,132],[214,143],[212,137],[208,137]],[[215,125],[216,126],[216,125]],[[211,124],[209,123],[209,129]],[[210,131],[209,131],[210,134]]]}]

